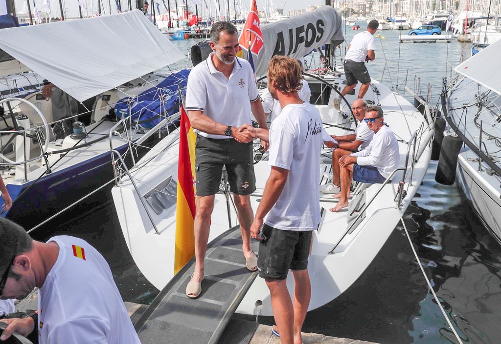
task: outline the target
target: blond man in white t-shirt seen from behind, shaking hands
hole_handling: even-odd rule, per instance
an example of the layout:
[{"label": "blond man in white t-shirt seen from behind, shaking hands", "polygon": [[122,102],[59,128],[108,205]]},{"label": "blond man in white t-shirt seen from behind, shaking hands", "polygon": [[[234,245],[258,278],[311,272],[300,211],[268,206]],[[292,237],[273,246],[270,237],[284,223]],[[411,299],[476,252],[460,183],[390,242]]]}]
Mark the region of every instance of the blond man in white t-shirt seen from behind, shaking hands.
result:
[{"label": "blond man in white t-shirt seen from behind, shaking hands", "polygon": [[[302,343],[301,328],[311,297],[308,256],[312,231],[321,219],[322,118],[313,105],[300,99],[301,79],[296,60],[286,56],[270,60],[268,88],[282,112],[270,127],[272,167],[250,228],[252,237],[261,240],[259,275],[270,288],[275,331],[280,332],[282,344]],[[260,138],[266,138],[263,131],[257,129]],[[294,304],[287,288],[289,269],[295,281]]]}]

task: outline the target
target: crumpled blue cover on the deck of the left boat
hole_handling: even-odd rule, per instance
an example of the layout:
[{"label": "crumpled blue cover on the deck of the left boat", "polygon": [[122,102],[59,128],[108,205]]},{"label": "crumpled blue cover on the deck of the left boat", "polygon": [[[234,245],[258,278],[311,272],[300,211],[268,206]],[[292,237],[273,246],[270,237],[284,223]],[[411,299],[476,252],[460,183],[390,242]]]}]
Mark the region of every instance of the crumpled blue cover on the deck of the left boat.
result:
[{"label": "crumpled blue cover on the deck of the left boat", "polygon": [[[179,111],[180,94],[185,94],[186,84],[188,82],[188,69],[182,69],[172,73],[158,85],[148,88],[131,103],[132,119],[141,122],[143,127],[153,127],[162,119],[158,115],[165,115],[164,109],[168,115]],[[162,97],[165,97],[165,107],[162,104]],[[115,113],[119,118],[129,115],[127,102],[129,97],[120,99],[115,106]],[[151,118],[151,120],[147,120]],[[143,120],[146,120],[143,122]]]}]

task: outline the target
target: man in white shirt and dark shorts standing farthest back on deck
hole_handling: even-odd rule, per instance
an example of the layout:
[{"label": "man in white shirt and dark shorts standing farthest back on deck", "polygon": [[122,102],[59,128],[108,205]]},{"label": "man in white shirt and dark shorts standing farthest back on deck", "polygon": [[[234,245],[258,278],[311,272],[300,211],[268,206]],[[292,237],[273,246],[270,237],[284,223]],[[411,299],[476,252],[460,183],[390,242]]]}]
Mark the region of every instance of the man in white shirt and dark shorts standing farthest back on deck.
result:
[{"label": "man in white shirt and dark shorts standing farthest back on deck", "polygon": [[[376,33],[378,26],[379,22],[376,19],[372,19],[367,24],[367,30],[357,33],[351,40],[350,45],[348,45],[344,61],[346,86],[341,91],[341,95],[345,96],[351,92],[358,81],[362,83],[358,91],[359,98],[363,98],[369,89],[371,77],[364,62],[376,59],[376,54],[374,53],[374,49],[376,48],[374,33]],[[339,109],[341,100],[341,98],[335,98],[334,107]]]}]

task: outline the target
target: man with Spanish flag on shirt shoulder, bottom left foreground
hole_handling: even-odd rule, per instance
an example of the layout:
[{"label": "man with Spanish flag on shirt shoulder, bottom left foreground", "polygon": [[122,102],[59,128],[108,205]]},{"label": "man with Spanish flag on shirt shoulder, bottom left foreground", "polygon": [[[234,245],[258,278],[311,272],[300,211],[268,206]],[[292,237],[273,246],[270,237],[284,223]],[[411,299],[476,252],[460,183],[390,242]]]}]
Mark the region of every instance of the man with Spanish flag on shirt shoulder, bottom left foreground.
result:
[{"label": "man with Spanish flag on shirt shoulder, bottom left foreground", "polygon": [[38,329],[40,344],[140,344],[110,266],[86,241],[35,241],[0,217],[0,259],[0,298],[22,299],[39,288],[38,320],[0,320],[9,323],[0,342]]}]

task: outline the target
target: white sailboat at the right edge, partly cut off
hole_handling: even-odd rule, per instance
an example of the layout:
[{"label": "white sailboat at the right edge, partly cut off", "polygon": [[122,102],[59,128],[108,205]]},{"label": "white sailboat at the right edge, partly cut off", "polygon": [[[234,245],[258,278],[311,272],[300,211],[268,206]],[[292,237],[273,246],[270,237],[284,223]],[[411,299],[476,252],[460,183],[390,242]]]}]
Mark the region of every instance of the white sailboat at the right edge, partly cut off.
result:
[{"label": "white sailboat at the right edge, partly cut off", "polygon": [[[464,194],[492,235],[501,242],[501,71],[498,40],[454,68],[442,93],[442,113],[447,120],[443,147],[450,157],[437,181],[457,178]],[[445,142],[445,141],[444,141]],[[442,154],[442,153],[441,153]],[[456,162],[457,161],[457,162]]]}]

